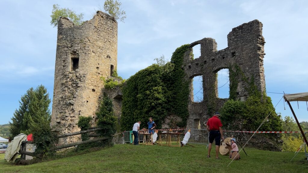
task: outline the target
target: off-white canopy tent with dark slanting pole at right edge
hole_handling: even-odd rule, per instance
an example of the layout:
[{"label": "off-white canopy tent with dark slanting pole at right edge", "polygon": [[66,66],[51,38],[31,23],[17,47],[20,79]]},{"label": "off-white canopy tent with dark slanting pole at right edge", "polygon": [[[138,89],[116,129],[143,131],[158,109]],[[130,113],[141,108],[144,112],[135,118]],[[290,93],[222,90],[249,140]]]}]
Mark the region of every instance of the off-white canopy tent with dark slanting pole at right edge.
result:
[{"label": "off-white canopy tent with dark slanting pole at right edge", "polygon": [[290,104],[290,102],[293,102],[293,101],[297,101],[297,102],[298,102],[298,101],[308,102],[308,92],[304,92],[304,93],[295,93],[295,94],[285,94],[285,95],[283,95],[283,98],[284,98],[285,101],[288,103],[288,105],[289,105],[289,107],[290,107],[290,109],[291,109],[291,111],[292,111],[292,114],[293,114],[293,116],[294,116],[294,119],[295,119],[295,121],[296,121],[296,123],[297,123],[297,125],[298,125],[298,127],[299,127],[299,130],[301,131],[302,136],[303,136],[303,138],[304,138],[304,140],[305,140],[305,142],[306,142],[306,145],[308,146],[308,142],[307,142],[306,136],[305,136],[305,134],[304,134],[304,132],[303,132],[303,130],[302,130],[302,127],[301,127],[301,125],[299,124],[298,119],[297,119],[297,117],[296,117],[296,115],[295,115],[295,113],[294,113],[294,111],[293,111],[293,108],[292,108],[292,106],[291,106],[291,104]]}]

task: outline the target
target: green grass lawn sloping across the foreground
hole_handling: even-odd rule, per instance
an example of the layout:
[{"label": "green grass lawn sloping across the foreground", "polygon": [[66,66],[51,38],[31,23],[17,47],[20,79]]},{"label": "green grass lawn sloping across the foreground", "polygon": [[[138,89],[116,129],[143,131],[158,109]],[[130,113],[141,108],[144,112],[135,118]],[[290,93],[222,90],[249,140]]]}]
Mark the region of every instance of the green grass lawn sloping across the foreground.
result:
[{"label": "green grass lawn sloping across the foreground", "polygon": [[7,163],[0,154],[0,172],[308,172],[305,154],[299,153],[292,162],[293,152],[262,151],[246,148],[247,156],[241,152],[241,160],[233,161],[228,156],[215,159],[213,147],[211,158],[203,145],[193,147],[134,146],[119,144],[99,151],[70,156],[62,159],[44,161],[21,166]]}]

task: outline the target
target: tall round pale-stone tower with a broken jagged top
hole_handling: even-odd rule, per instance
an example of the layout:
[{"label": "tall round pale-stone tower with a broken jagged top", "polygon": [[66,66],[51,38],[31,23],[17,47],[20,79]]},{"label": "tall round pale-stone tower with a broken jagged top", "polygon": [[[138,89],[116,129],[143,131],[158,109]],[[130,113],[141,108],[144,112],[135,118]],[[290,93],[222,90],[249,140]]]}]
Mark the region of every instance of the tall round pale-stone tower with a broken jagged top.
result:
[{"label": "tall round pale-stone tower with a broken jagged top", "polygon": [[79,116],[95,116],[103,78],[117,66],[117,40],[117,22],[101,11],[81,26],[60,18],[51,115],[60,133],[79,131]]}]

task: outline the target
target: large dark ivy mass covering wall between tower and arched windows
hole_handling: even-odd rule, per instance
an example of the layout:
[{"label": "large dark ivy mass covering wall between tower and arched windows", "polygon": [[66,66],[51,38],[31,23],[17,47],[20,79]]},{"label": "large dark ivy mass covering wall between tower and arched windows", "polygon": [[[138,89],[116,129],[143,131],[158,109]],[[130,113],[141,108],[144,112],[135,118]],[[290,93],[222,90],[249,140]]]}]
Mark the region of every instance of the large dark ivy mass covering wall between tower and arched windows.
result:
[{"label": "large dark ivy mass covering wall between tower and arched windows", "polygon": [[[152,117],[161,128],[168,113],[180,116],[178,125],[186,126],[188,117],[189,81],[184,81],[183,56],[189,45],[183,45],[172,54],[171,62],[159,66],[153,64],[131,76],[122,87],[121,130],[132,130],[137,121],[147,128]],[[172,65],[170,65],[170,63]]]}]

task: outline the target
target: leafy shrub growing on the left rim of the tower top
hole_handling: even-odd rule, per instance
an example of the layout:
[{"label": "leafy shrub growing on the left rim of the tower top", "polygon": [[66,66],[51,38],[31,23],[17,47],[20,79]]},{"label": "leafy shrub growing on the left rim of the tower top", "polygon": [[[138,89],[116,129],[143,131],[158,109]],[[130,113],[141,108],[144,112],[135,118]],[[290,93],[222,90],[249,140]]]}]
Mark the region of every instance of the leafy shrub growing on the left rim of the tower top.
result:
[{"label": "leafy shrub growing on the left rim of the tower top", "polygon": [[58,22],[60,17],[69,18],[75,25],[81,25],[83,23],[83,14],[76,14],[75,11],[70,10],[68,8],[60,8],[58,4],[53,5],[53,9],[51,12],[51,26],[58,26]]}]

